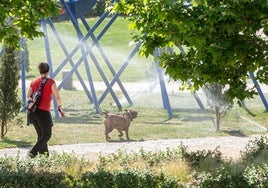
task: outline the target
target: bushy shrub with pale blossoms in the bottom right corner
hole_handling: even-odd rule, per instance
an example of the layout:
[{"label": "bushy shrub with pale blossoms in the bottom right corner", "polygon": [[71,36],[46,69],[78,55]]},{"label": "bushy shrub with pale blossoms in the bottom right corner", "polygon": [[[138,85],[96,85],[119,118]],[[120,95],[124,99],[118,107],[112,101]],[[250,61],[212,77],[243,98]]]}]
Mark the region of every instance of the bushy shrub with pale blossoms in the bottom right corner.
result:
[{"label": "bushy shrub with pale blossoms in the bottom right corner", "polygon": [[[218,163],[210,169],[198,170],[192,174],[189,185],[194,187],[267,187],[268,166],[262,151],[268,147],[267,137],[261,136],[250,141],[246,151],[242,153],[242,160],[237,163]],[[201,155],[202,156],[202,155]],[[203,159],[203,157],[201,157]],[[258,159],[258,160],[257,160]],[[201,167],[202,162],[197,165]]]}]

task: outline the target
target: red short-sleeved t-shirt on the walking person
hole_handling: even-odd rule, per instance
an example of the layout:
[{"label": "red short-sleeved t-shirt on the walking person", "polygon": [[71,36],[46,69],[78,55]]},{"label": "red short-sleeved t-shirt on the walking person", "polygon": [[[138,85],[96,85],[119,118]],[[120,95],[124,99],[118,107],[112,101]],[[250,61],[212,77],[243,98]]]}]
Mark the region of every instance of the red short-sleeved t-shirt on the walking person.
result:
[{"label": "red short-sleeved t-shirt on the walking person", "polygon": [[[41,85],[42,80],[43,80],[43,77],[39,77],[31,82],[30,87],[32,88],[33,93],[39,89],[39,86]],[[50,78],[46,81],[45,86],[43,88],[43,92],[41,95],[41,100],[40,100],[38,109],[50,111],[51,99],[52,99],[51,86],[54,83],[55,83],[55,81],[53,79],[50,79]]]}]

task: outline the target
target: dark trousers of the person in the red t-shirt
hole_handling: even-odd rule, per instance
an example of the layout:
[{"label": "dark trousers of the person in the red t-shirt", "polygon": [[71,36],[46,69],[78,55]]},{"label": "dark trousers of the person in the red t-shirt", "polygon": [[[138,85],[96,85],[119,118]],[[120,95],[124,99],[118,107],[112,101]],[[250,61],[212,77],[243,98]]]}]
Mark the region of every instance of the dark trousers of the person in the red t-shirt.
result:
[{"label": "dark trousers of the person in the red t-shirt", "polygon": [[35,157],[38,154],[49,155],[47,142],[52,135],[52,117],[50,112],[37,109],[36,112],[31,112],[30,123],[33,124],[37,133],[37,141],[33,146],[30,154]]}]

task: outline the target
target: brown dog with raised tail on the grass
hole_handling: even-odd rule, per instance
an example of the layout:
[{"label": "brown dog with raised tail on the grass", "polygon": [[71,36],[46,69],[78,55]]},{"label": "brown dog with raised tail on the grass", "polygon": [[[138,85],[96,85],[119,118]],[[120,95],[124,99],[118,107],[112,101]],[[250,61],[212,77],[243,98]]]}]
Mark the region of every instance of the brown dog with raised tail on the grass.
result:
[{"label": "brown dog with raised tail on the grass", "polygon": [[100,114],[104,115],[104,125],[105,125],[105,138],[106,141],[110,139],[109,133],[113,131],[113,129],[117,129],[120,133],[118,136],[123,136],[123,132],[126,132],[126,137],[129,140],[128,130],[130,126],[130,122],[138,116],[138,112],[135,110],[125,110],[122,114],[108,114],[100,110],[98,106],[98,111]]}]

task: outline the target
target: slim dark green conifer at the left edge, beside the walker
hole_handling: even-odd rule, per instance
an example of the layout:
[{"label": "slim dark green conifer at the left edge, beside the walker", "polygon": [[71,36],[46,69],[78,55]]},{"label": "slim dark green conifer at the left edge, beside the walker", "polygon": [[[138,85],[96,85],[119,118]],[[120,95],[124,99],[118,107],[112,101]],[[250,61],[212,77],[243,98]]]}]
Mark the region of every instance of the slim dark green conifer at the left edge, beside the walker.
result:
[{"label": "slim dark green conifer at the left edge, beside the walker", "polygon": [[1,138],[7,133],[7,124],[19,112],[19,64],[15,47],[6,47],[0,60],[0,122]]}]

